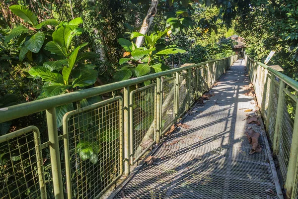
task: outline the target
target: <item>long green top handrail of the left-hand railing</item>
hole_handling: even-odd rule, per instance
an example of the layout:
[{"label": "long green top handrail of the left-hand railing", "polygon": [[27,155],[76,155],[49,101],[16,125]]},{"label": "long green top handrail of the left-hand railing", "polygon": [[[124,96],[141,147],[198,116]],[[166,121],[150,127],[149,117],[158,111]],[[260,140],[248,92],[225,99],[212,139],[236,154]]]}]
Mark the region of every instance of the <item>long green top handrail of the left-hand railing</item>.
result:
[{"label": "long green top handrail of the left-hand railing", "polygon": [[63,94],[63,95],[45,98],[45,99],[41,99],[41,100],[35,100],[35,101],[21,103],[21,104],[17,104],[17,105],[13,105],[13,106],[8,106],[5,108],[0,108],[0,123],[9,121],[12,119],[20,118],[20,117],[23,117],[23,116],[26,116],[29,114],[39,112],[39,111],[47,110],[47,109],[50,109],[50,108],[53,108],[56,106],[64,105],[67,103],[72,103],[74,101],[83,100],[86,98],[91,98],[93,96],[116,91],[116,90],[122,89],[124,87],[140,84],[142,82],[152,80],[155,78],[159,78],[161,76],[170,75],[170,74],[173,74],[176,72],[184,71],[184,70],[194,68],[194,67],[199,67],[202,65],[204,66],[207,63],[224,60],[224,59],[228,59],[228,58],[230,58],[230,57],[216,59],[216,60],[210,60],[210,61],[206,61],[206,62],[201,62],[199,64],[194,64],[191,66],[179,67],[179,68],[162,71],[159,73],[154,73],[154,74],[150,74],[150,75],[146,75],[146,76],[142,76],[142,77],[138,77],[138,78],[132,78],[129,80],[115,82],[115,83],[111,83],[111,84],[107,84],[107,85],[102,85],[99,87],[93,87],[93,88],[85,89],[82,91],[76,91],[73,93]]}]

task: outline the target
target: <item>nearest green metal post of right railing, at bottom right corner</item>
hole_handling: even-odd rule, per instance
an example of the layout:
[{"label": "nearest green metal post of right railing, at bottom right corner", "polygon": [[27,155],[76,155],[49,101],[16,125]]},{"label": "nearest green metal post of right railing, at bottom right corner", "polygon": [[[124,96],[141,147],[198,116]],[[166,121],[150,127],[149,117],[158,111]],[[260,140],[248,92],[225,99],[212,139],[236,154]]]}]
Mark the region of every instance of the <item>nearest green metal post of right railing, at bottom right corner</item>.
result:
[{"label": "nearest green metal post of right railing, at bottom right corner", "polygon": [[[296,104],[298,104],[298,100],[296,100]],[[288,165],[288,173],[285,188],[287,190],[286,198],[290,199],[293,193],[293,187],[295,187],[295,177],[294,175],[297,170],[297,155],[298,155],[298,106],[296,106],[295,112],[295,121],[293,127],[293,137],[291,144],[291,152],[289,158]]]}]

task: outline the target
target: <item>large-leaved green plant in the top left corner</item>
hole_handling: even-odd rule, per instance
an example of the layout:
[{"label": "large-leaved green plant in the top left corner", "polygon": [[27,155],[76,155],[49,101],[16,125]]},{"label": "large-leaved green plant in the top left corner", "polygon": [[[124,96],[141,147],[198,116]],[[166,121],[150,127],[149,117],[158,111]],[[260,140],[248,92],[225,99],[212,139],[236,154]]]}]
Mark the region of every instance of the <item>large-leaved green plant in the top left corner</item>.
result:
[{"label": "large-leaved green plant in the top left corner", "polygon": [[38,23],[37,16],[22,5],[12,5],[9,9],[23,19],[26,24],[12,29],[5,37],[4,43],[8,43],[11,39],[19,37],[16,42],[16,45],[21,45],[19,60],[22,61],[26,56],[28,60],[33,61],[32,53],[38,53],[44,45],[45,40],[51,39],[53,29],[50,26],[58,25],[58,21],[55,19],[46,19]]}]

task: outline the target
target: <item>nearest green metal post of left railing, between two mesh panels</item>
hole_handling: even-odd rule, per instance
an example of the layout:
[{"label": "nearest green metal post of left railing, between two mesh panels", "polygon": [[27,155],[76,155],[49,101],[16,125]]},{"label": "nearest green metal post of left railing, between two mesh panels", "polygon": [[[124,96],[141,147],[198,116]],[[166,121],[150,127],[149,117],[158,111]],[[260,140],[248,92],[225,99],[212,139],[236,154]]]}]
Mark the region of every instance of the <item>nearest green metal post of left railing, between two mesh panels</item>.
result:
[{"label": "nearest green metal post of left railing, between two mesh panels", "polygon": [[56,108],[52,107],[46,110],[47,114],[47,125],[50,144],[51,154],[51,167],[53,175],[53,187],[55,199],[63,199],[63,187],[62,187],[62,174],[61,174],[61,163],[60,163],[60,150],[58,140],[58,129],[57,129],[57,118]]}]

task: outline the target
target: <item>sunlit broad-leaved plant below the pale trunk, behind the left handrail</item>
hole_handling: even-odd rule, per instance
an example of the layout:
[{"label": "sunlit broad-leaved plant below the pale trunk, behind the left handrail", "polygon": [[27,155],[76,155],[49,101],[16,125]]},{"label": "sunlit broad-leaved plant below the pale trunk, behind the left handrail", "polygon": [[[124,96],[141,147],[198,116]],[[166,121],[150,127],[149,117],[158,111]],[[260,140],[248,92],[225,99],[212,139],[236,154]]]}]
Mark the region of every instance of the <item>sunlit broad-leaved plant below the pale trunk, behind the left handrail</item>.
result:
[{"label": "sunlit broad-leaved plant below the pale trunk, behind the left handrail", "polygon": [[[166,69],[166,66],[162,64],[170,54],[185,53],[186,51],[176,45],[164,44],[164,36],[167,35],[167,31],[157,31],[148,35],[143,35],[139,32],[133,32],[130,39],[138,36],[145,37],[144,47],[137,48],[133,41],[129,41],[124,38],[118,39],[120,45],[126,51],[125,57],[119,60],[119,64],[122,65],[120,71],[114,75],[114,79],[117,81],[127,80],[132,76],[140,77],[151,73],[161,72]],[[150,84],[147,82],[146,84]]]}]

